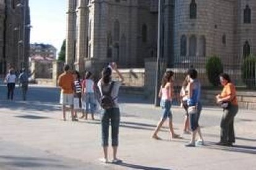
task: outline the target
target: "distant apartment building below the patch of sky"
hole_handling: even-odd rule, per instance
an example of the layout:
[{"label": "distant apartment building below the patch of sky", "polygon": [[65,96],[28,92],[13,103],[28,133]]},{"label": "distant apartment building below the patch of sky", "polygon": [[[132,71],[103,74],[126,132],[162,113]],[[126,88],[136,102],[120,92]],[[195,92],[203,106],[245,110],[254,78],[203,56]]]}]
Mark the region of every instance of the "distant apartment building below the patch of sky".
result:
[{"label": "distant apartment building below the patch of sky", "polygon": [[50,44],[30,44],[30,57],[40,56],[43,58],[56,59],[57,49]]}]

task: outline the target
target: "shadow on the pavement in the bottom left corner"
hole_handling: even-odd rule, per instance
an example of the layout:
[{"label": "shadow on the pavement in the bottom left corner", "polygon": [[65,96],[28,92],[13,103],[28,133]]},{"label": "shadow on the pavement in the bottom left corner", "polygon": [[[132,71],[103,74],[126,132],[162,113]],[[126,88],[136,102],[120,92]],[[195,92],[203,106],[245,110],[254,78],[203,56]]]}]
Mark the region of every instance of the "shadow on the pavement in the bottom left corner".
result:
[{"label": "shadow on the pavement in the bottom left corner", "polygon": [[2,166],[11,166],[16,168],[59,168],[69,169],[71,167],[64,166],[58,160],[45,159],[45,158],[32,158],[32,157],[20,157],[20,156],[0,156]]}]

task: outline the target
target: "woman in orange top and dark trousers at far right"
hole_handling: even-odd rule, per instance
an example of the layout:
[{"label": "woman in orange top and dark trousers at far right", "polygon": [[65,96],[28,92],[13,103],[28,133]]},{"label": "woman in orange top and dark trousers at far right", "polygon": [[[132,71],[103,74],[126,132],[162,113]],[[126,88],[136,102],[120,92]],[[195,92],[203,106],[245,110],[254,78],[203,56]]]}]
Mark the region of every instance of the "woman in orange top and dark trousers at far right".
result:
[{"label": "woman in orange top and dark trousers at far right", "polygon": [[234,117],[238,112],[236,87],[231,83],[228,74],[220,75],[221,85],[224,87],[221,94],[216,95],[216,102],[223,107],[221,119],[221,137],[217,145],[232,146],[235,142]]}]

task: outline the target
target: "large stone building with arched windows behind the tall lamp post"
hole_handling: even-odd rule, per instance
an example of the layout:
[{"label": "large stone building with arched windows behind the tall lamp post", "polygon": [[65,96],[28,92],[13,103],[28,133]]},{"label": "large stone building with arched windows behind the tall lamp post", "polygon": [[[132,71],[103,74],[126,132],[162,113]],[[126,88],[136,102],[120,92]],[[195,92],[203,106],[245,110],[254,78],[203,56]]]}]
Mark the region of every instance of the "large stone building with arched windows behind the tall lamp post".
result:
[{"label": "large stone building with arched windows behind the tall lamp post", "polygon": [[[93,71],[110,61],[141,68],[156,58],[158,0],[68,0],[67,6],[66,63]],[[255,16],[255,0],[165,0],[163,58],[176,67],[216,54],[232,65],[256,54]]]}]

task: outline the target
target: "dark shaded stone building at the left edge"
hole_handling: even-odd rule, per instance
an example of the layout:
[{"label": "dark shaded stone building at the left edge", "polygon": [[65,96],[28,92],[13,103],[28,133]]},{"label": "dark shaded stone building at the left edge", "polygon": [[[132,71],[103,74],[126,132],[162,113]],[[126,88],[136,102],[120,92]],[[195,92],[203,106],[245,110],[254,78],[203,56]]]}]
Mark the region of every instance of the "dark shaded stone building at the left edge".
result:
[{"label": "dark shaded stone building at the left edge", "polygon": [[0,1],[0,74],[7,67],[16,70],[28,66],[30,39],[28,0]]}]

